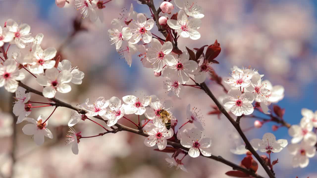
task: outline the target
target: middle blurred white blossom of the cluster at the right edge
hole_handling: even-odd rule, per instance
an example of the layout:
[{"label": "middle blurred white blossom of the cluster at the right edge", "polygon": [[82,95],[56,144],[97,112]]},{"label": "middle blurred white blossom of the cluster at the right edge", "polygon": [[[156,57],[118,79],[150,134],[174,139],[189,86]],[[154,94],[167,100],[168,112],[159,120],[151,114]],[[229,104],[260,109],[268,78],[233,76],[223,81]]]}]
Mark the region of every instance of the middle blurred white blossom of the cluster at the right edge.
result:
[{"label": "middle blurred white blossom of the cluster at the right edge", "polygon": [[317,142],[317,136],[312,131],[313,130],[313,123],[307,122],[306,118],[302,118],[299,125],[292,125],[288,129],[288,134],[293,137],[291,142],[299,143],[302,139],[309,145],[315,145]]}]

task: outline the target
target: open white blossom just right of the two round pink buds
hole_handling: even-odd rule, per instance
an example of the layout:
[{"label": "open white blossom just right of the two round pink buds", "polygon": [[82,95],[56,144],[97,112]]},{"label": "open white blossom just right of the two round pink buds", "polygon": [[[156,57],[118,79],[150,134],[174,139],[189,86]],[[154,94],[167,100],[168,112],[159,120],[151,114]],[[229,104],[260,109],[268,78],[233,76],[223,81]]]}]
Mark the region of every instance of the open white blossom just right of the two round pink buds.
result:
[{"label": "open white blossom just right of the two round pink buds", "polygon": [[169,19],[167,20],[167,24],[183,38],[190,37],[192,40],[200,38],[200,33],[197,31],[201,25],[200,19],[192,18],[188,21],[184,10],[178,12],[177,20]]}]

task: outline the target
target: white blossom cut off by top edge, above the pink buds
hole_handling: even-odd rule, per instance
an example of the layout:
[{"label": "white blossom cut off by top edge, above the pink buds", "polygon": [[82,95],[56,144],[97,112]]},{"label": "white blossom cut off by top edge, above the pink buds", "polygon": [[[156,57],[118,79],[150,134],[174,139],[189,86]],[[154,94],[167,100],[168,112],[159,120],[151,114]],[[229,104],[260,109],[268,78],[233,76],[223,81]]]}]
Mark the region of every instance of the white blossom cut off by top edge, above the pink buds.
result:
[{"label": "white blossom cut off by top edge, above the pink buds", "polygon": [[178,8],[184,9],[188,16],[197,19],[201,19],[205,16],[202,7],[198,6],[194,0],[175,0],[174,2]]}]

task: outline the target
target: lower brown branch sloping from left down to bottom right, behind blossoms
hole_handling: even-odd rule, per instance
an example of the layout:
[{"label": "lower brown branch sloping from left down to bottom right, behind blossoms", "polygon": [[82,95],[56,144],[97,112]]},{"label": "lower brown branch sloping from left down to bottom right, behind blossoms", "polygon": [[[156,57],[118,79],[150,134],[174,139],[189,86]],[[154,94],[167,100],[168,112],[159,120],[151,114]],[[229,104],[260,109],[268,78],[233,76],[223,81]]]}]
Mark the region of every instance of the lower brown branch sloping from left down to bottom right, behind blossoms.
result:
[{"label": "lower brown branch sloping from left down to bottom right, behind blossoms", "polygon": [[[29,87],[29,86],[23,84],[22,82],[19,82],[19,86],[25,88],[25,89],[26,89],[26,92],[31,92],[31,93],[35,93],[35,94],[37,94],[37,95],[43,96],[42,92],[37,91],[37,90],[35,90],[35,89],[33,89],[33,88],[31,88],[31,87]],[[59,100],[59,99],[52,98],[52,99],[50,99],[50,100],[54,101],[54,102],[55,102],[54,105],[56,105],[56,106],[67,107],[67,108],[69,108],[69,109],[72,109],[72,110],[74,110],[74,111],[77,111],[77,112],[80,113],[80,114],[86,114],[86,113],[87,113],[87,111],[82,110],[82,109],[80,109],[80,108],[78,108],[78,107],[69,105],[68,103],[65,103],[65,102],[63,102],[63,101],[61,101],[61,100]],[[107,123],[107,120],[104,120],[101,116],[95,116],[94,118],[100,119],[100,120],[104,121],[105,123]],[[116,133],[116,132],[118,132],[118,131],[128,131],[128,132],[135,133],[135,134],[138,134],[138,135],[141,135],[141,136],[144,136],[144,137],[149,136],[148,134],[146,134],[146,133],[143,132],[142,130],[136,130],[136,129],[127,127],[127,126],[125,126],[125,125],[119,124],[119,123],[115,124],[115,126],[116,126],[117,128],[116,128],[114,131],[113,131],[113,130],[110,131],[111,133]],[[109,132],[109,133],[110,133],[110,132]],[[167,144],[169,144],[169,145],[171,145],[171,146],[173,146],[173,147],[176,147],[176,148],[184,149],[184,150],[186,150],[186,151],[189,150],[188,148],[183,147],[180,143],[176,143],[176,142],[172,142],[172,141],[167,141]],[[241,166],[239,166],[239,165],[237,165],[237,164],[235,164],[235,163],[233,163],[233,162],[230,162],[230,161],[224,159],[224,158],[221,157],[221,156],[211,155],[211,156],[204,156],[204,157],[208,157],[208,158],[213,159],[213,160],[215,160],[215,161],[222,162],[222,163],[224,163],[224,164],[226,164],[226,165],[232,167],[233,170],[242,171],[242,172],[244,172],[244,173],[246,173],[246,174],[249,174],[249,175],[252,175],[253,177],[256,177],[256,178],[264,178],[264,177],[262,177],[261,175],[257,175],[254,171],[249,170],[249,169],[246,169],[246,168],[243,168],[243,167],[241,167]]]}]

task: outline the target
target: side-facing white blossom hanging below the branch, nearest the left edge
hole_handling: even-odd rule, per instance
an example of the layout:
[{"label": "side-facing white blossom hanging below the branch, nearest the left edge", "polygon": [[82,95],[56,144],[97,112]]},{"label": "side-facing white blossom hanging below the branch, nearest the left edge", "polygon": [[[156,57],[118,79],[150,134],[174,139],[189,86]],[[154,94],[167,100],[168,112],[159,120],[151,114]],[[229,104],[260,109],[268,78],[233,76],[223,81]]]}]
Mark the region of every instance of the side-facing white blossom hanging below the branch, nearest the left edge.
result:
[{"label": "side-facing white blossom hanging below the branch, nearest the left edge", "polygon": [[19,124],[23,121],[23,119],[30,115],[31,113],[31,104],[29,104],[29,100],[31,98],[30,93],[25,93],[26,89],[19,86],[16,90],[16,101],[13,106],[13,114],[19,116],[16,124]]}]

